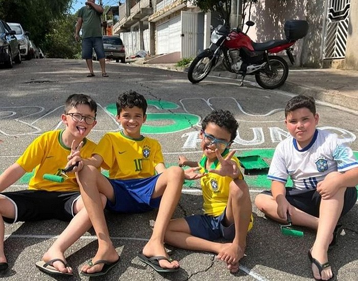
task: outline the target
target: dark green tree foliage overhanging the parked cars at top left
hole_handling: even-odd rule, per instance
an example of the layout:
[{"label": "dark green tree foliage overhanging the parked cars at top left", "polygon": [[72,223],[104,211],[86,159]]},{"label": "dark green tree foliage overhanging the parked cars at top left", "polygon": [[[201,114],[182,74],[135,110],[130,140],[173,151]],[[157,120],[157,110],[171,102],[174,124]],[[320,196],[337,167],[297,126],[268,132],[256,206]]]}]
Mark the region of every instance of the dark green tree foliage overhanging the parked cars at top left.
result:
[{"label": "dark green tree foliage overhanging the parked cars at top left", "polygon": [[[0,0],[0,18],[7,22],[18,22],[30,32],[30,39],[42,46],[52,23],[61,22],[68,14],[73,0]],[[73,36],[74,28],[68,33]],[[46,51],[46,50],[43,50]]]}]

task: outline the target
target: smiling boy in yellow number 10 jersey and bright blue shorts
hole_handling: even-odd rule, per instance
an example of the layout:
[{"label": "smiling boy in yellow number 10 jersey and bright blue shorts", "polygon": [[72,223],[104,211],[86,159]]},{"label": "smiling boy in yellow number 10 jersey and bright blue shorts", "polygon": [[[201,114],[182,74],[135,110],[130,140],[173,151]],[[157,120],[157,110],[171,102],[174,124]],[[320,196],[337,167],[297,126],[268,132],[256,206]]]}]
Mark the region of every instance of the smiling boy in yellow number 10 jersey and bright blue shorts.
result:
[{"label": "smiling boy in yellow number 10 jersey and bright blue shorts", "polygon": [[[106,133],[91,159],[83,160],[78,173],[81,195],[96,231],[98,250],[92,261],[81,268],[86,276],[105,274],[119,256],[105,222],[99,194],[107,197],[106,208],[115,212],[141,213],[159,208],[153,233],[139,259],[156,271],[171,272],[179,268],[164,248],[164,233],[178,203],[184,178],[200,178],[198,169],[184,173],[180,167],[165,168],[162,149],[157,140],[143,136],[147,101],[135,91],[124,92],[117,100],[117,120],[123,131]],[[109,170],[109,178],[97,168]]]}]

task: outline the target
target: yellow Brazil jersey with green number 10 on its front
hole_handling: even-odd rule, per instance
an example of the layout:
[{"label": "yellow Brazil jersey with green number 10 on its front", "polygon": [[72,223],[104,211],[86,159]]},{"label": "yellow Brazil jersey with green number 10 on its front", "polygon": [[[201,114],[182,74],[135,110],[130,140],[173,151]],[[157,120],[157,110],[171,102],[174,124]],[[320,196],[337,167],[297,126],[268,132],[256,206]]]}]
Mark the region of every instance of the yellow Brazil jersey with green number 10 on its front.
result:
[{"label": "yellow Brazil jersey with green number 10 on its front", "polygon": [[155,175],[155,166],[164,162],[162,148],[150,137],[127,137],[123,132],[106,133],[93,154],[103,158],[102,168],[111,179],[147,178]]}]

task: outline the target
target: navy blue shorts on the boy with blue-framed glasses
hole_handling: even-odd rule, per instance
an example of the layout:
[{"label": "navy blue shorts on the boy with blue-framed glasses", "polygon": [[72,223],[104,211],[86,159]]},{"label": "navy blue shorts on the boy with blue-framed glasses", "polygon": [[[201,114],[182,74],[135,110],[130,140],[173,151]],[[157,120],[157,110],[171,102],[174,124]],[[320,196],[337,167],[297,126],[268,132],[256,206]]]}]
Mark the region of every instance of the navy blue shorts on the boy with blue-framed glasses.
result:
[{"label": "navy blue shorts on the boy with blue-framed glasses", "polygon": [[235,225],[223,225],[225,210],[220,216],[194,215],[184,218],[190,228],[190,234],[205,240],[214,241],[221,238],[233,240],[235,237]]}]

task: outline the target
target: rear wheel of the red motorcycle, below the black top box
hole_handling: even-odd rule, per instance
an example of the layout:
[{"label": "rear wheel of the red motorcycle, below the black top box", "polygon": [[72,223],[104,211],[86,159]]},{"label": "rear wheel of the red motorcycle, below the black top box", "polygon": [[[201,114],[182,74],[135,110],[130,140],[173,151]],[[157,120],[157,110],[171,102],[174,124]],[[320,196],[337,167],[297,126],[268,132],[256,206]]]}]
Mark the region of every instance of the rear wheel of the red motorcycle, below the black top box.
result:
[{"label": "rear wheel of the red motorcycle, below the black top box", "polygon": [[288,76],[288,65],[287,62],[278,56],[269,56],[269,64],[263,69],[260,69],[258,74],[255,74],[257,84],[264,89],[275,89],[281,86],[287,79]]}]

